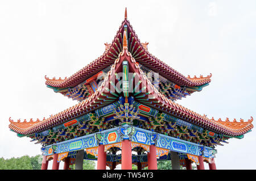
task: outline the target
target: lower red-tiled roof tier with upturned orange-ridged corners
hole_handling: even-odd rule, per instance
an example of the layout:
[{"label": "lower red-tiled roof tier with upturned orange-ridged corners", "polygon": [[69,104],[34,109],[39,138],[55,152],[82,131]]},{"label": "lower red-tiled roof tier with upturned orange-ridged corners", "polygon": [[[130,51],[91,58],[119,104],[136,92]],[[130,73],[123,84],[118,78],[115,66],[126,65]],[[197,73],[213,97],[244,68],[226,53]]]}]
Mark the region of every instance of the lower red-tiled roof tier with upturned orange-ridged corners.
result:
[{"label": "lower red-tiled roof tier with upturned orange-ridged corners", "polygon": [[[158,110],[162,110],[163,112],[180,117],[189,123],[199,125],[200,127],[207,128],[210,131],[225,134],[227,136],[240,136],[253,128],[252,117],[246,122],[243,120],[240,122],[237,122],[236,120],[230,122],[228,119],[226,121],[222,121],[220,119],[209,119],[207,116],[202,116],[199,113],[193,112],[188,108],[180,106],[179,104],[172,102],[172,100],[167,99],[154,87],[154,85],[152,85],[146,75],[143,74],[143,71],[132,57],[131,53],[127,50],[123,50],[119,54],[119,58],[115,60],[114,64],[112,65],[112,69],[108,72],[108,76],[104,79],[104,83],[102,83],[98,90],[94,92],[92,96],[89,96],[89,98],[73,107],[68,108],[65,111],[49,117],[48,119],[44,119],[43,121],[31,122],[28,124],[27,122],[15,123],[10,119],[9,128],[16,133],[25,135],[42,132],[55,125],[64,123],[65,121],[71,120],[77,116],[96,110],[99,107],[106,106],[106,104],[116,101],[119,95],[114,95],[108,91],[106,92],[105,90],[108,90],[108,87],[112,86],[110,80],[113,79],[115,73],[122,71],[120,67],[122,65],[122,60],[124,59],[129,60],[129,70],[136,73],[136,75],[139,77],[141,80],[141,87],[146,86],[146,92],[141,92],[140,94],[134,96],[134,99],[138,102],[148,104],[151,107],[157,108]],[[117,82],[118,80],[115,79],[115,81]],[[116,89],[116,87],[114,88]],[[121,90],[119,90],[119,93],[120,92]]]}]

